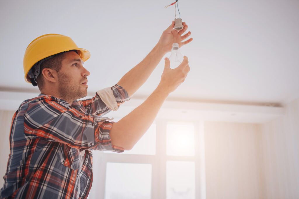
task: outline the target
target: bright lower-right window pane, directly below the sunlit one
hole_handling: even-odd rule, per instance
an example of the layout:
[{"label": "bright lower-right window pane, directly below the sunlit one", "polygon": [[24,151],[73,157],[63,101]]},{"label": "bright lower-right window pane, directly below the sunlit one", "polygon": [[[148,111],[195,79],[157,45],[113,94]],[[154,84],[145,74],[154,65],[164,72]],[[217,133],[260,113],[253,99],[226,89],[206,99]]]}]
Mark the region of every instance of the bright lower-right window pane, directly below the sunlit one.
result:
[{"label": "bright lower-right window pane, directly below the sunlit one", "polygon": [[166,195],[168,199],[195,199],[195,164],[167,161]]}]

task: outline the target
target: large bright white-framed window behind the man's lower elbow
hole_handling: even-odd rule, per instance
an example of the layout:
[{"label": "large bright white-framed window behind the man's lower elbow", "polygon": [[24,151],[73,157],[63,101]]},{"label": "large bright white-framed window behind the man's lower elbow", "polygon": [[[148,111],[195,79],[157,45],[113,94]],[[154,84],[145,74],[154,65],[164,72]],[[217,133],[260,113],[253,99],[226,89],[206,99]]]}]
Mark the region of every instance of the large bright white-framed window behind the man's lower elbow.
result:
[{"label": "large bright white-framed window behind the man's lower elbow", "polygon": [[199,198],[205,181],[196,125],[158,120],[130,151],[94,151],[89,198]]}]

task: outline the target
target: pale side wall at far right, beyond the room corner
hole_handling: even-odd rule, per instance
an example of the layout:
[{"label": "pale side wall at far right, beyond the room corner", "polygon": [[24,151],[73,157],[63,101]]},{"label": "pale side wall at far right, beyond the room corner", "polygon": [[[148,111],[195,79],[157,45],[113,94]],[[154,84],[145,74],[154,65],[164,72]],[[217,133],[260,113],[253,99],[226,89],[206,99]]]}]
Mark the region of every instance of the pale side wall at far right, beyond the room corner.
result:
[{"label": "pale side wall at far right, beyond the room corner", "polygon": [[265,198],[299,198],[299,99],[262,125]]}]

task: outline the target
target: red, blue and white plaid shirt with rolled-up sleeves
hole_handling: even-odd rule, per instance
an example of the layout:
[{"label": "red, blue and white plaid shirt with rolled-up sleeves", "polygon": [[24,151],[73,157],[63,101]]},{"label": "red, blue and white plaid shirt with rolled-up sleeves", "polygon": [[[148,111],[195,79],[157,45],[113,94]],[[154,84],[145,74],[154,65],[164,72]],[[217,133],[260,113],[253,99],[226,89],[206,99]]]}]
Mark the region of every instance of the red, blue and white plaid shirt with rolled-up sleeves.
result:
[{"label": "red, blue and white plaid shirt with rolled-up sleeves", "polygon": [[13,115],[1,198],[87,198],[91,150],[123,152],[111,144],[113,121],[102,117],[130,98],[118,84],[68,104],[50,95],[25,100]]}]

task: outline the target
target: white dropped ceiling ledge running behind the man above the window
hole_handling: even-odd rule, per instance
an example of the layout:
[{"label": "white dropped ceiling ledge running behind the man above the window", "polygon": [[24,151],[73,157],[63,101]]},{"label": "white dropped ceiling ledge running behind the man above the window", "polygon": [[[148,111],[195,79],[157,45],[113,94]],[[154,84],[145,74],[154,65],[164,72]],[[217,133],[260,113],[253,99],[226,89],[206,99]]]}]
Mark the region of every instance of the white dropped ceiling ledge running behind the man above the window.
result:
[{"label": "white dropped ceiling ledge running behind the man above the window", "polygon": [[[28,92],[30,91],[30,92]],[[7,90],[0,89],[0,109],[17,110],[19,105],[26,99],[38,95],[37,90],[18,90],[17,88]],[[89,92],[86,98],[92,97]],[[110,111],[105,116],[123,118],[133,109],[146,100],[147,96],[132,96],[131,100],[123,103],[117,112]],[[167,119],[173,121],[228,121],[242,123],[265,123],[284,115],[284,107],[262,106],[253,104],[236,104],[202,102],[194,99],[178,100],[178,98],[167,98],[158,112],[156,119]],[[146,113],[144,113],[146,114]]]}]

